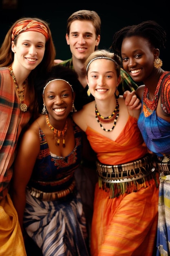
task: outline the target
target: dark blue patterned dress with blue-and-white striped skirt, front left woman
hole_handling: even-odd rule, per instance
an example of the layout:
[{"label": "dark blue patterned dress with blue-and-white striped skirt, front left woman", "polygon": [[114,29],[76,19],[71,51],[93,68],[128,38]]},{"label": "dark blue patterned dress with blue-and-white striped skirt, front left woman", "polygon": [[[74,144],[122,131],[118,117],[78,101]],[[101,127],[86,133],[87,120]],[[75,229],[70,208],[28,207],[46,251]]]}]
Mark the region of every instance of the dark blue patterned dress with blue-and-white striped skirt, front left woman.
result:
[{"label": "dark blue patterned dress with blue-and-white striped skirt, front left woman", "polygon": [[44,256],[88,256],[86,220],[74,179],[82,132],[73,123],[75,148],[66,157],[49,151],[39,128],[40,153],[26,190],[24,228]]}]

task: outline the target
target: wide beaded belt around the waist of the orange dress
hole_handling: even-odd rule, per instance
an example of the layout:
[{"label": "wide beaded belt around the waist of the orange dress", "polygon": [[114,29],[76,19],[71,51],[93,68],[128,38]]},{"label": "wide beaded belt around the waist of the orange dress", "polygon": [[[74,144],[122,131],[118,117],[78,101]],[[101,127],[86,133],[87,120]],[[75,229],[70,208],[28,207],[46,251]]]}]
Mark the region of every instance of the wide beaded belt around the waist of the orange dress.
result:
[{"label": "wide beaded belt around the waist of the orange dress", "polygon": [[102,179],[102,182],[106,183],[139,180],[155,171],[155,168],[151,166],[151,159],[148,156],[127,164],[106,165],[99,162],[96,164],[99,177]]}]

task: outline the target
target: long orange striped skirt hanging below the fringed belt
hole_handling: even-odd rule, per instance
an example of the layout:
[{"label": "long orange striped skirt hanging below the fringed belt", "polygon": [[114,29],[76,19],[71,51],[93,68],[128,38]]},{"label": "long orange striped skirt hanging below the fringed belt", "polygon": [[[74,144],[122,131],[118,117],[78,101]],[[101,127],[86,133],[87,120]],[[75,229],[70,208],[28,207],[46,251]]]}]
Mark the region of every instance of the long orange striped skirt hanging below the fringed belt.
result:
[{"label": "long orange striped skirt hanging below the fringed belt", "polygon": [[[137,192],[109,198],[95,188],[91,256],[152,256],[157,233],[158,188],[155,180]],[[153,255],[155,256],[155,255]]]}]

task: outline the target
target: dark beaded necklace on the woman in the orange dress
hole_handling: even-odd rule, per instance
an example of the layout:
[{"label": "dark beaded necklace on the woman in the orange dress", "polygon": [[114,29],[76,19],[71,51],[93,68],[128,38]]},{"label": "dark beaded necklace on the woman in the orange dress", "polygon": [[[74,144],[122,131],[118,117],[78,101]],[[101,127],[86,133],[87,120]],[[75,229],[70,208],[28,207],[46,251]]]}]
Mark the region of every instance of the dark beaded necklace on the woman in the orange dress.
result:
[{"label": "dark beaded necklace on the woman in the orange dress", "polygon": [[[116,108],[115,110],[113,111],[112,115],[108,116],[108,117],[103,117],[99,114],[99,111],[97,110],[97,106],[95,105],[95,114],[96,114],[96,119],[97,119],[97,122],[100,123],[100,127],[106,131],[106,132],[111,132],[115,125],[116,125],[116,122],[117,122],[117,118],[119,117],[119,103],[116,99]],[[110,119],[110,120],[105,120],[105,119]],[[113,127],[111,129],[105,129],[101,123],[105,123],[105,124],[109,124],[111,122],[114,121],[114,124],[113,124]]]}]

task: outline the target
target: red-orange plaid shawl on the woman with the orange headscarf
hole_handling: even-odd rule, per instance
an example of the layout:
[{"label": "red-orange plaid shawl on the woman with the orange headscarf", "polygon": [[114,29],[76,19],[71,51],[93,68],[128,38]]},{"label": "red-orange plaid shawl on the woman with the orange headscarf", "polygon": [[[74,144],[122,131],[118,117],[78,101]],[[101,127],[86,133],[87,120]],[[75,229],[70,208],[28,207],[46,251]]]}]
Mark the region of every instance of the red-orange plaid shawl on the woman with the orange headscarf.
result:
[{"label": "red-orange plaid shawl on the woman with the orange headscarf", "polygon": [[18,137],[29,122],[30,112],[21,112],[8,67],[0,68],[0,200],[7,193]]}]

